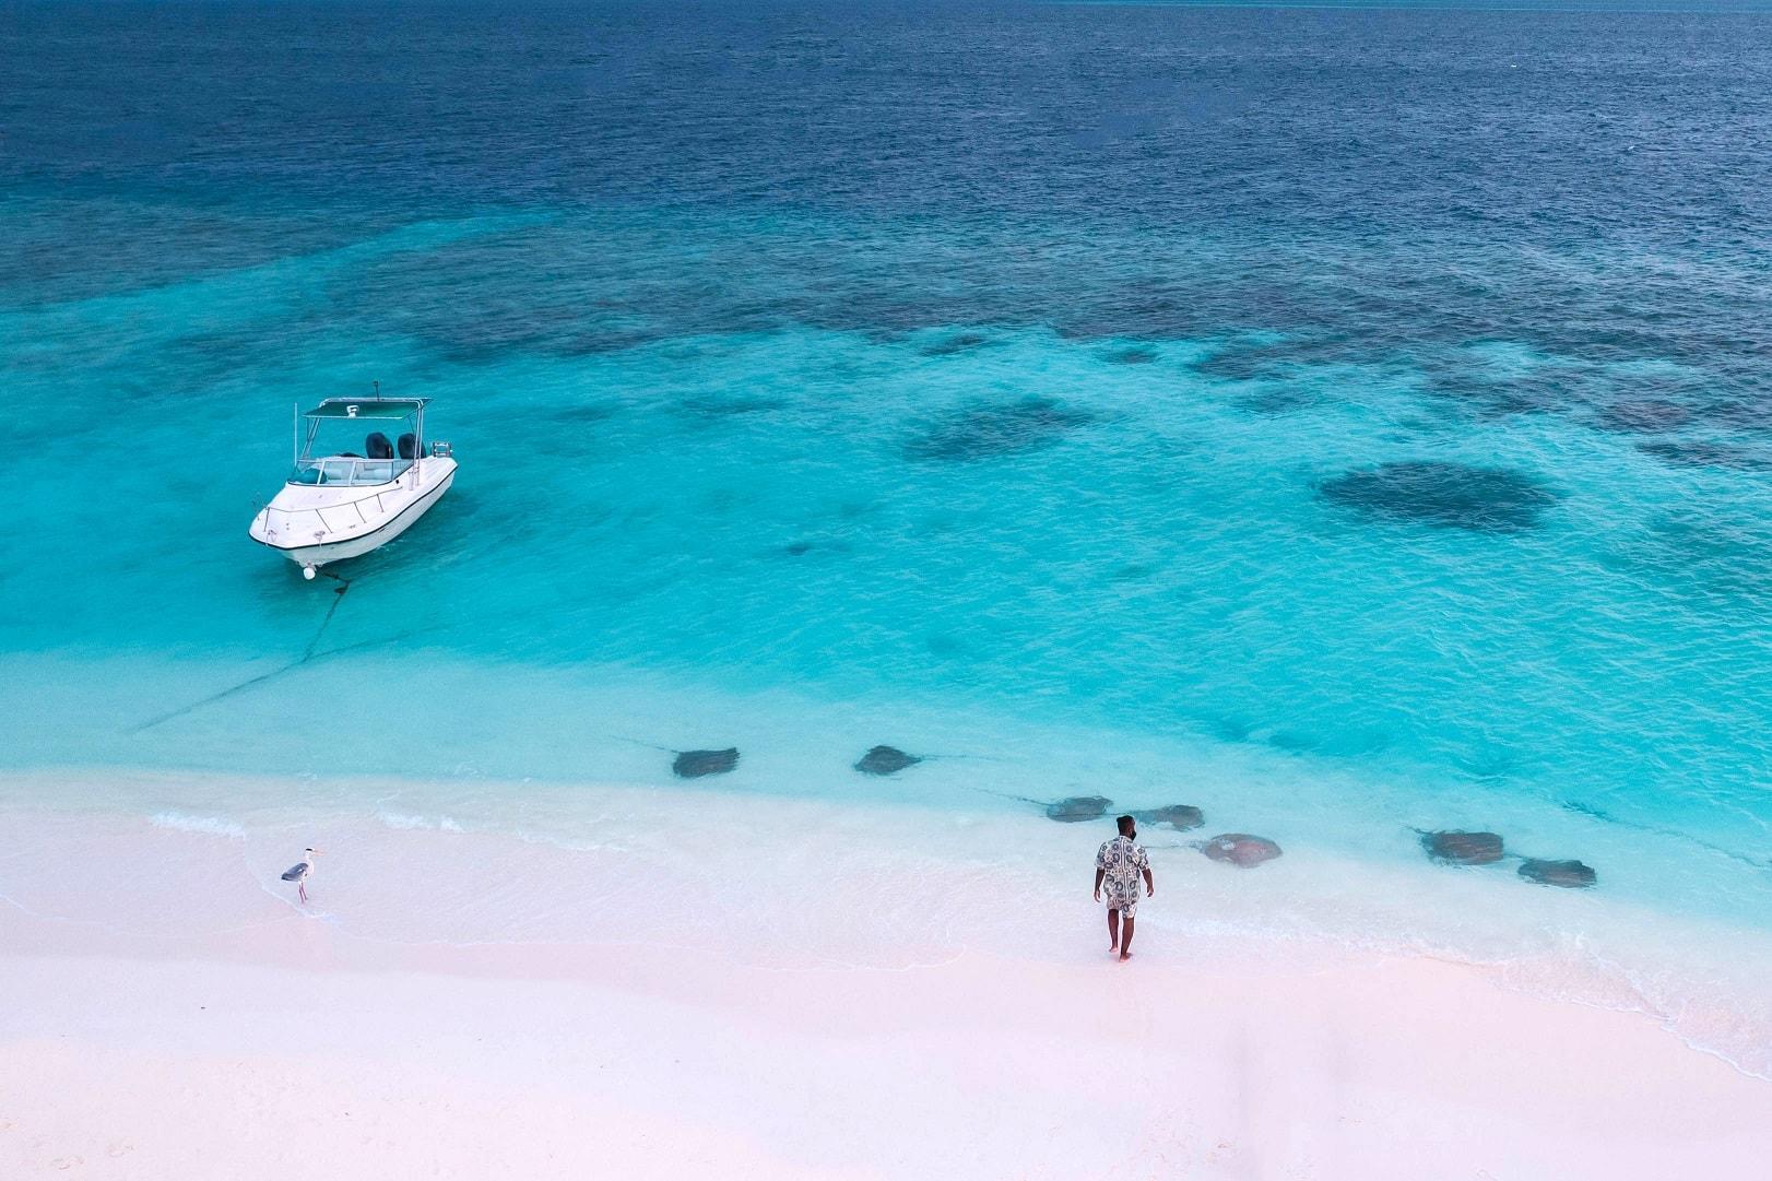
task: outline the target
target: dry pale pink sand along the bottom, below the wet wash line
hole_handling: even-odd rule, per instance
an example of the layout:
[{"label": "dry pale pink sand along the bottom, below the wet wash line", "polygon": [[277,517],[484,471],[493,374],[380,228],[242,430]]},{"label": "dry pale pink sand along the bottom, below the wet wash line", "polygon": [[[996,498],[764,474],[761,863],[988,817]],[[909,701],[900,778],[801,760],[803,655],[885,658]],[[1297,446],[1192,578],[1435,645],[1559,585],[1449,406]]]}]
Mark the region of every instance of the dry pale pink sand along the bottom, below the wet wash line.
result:
[{"label": "dry pale pink sand along the bottom, below the wet wash line", "polygon": [[1001,1177],[1648,1181],[1772,1151],[1772,1085],[1426,958],[1187,963],[1141,931],[1131,965],[757,966],[299,913],[129,945],[12,906],[0,936],[21,1177],[909,1179],[959,1153]]}]

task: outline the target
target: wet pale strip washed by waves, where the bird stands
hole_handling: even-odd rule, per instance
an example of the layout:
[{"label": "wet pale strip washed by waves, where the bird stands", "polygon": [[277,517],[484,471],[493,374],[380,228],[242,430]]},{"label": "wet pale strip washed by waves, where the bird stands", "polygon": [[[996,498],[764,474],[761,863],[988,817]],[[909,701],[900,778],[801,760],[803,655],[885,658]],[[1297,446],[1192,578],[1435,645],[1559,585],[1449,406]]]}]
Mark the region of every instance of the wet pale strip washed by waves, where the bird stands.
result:
[{"label": "wet pale strip washed by waves, where the bird stands", "polygon": [[[1077,965],[1102,926],[1086,881],[1106,821],[702,786],[147,771],[110,775],[101,794],[89,775],[0,775],[14,833],[0,906],[129,956],[211,956],[234,933],[299,915],[276,874],[307,844],[328,851],[307,920],[390,949],[640,943],[744,968],[911,970],[973,952]],[[82,807],[44,807],[55,798]],[[1212,832],[1141,832],[1159,878],[1139,913],[1143,950],[1185,947],[1191,965],[1226,970],[1444,961],[1508,991],[1634,1014],[1772,1082],[1765,931],[1527,885],[1506,865],[1393,864],[1290,839],[1279,860],[1242,871],[1198,855]]]}]

